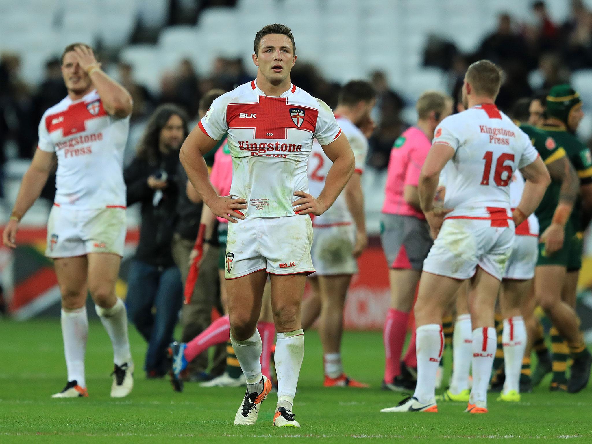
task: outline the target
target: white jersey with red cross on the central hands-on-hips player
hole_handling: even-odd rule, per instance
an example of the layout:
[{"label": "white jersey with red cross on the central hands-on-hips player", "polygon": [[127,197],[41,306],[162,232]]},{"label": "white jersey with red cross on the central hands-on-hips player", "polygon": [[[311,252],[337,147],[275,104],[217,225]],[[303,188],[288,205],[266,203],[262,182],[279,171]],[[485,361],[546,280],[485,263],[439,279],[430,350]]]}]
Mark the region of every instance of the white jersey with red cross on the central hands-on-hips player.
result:
[{"label": "white jersey with red cross on the central hands-on-hips player", "polygon": [[294,85],[279,97],[266,96],[255,81],[215,99],[198,125],[215,140],[228,133],[230,195],[247,200],[245,217],[295,215],[294,192],[308,192],[313,139],[327,145],[341,134],[323,101]]}]

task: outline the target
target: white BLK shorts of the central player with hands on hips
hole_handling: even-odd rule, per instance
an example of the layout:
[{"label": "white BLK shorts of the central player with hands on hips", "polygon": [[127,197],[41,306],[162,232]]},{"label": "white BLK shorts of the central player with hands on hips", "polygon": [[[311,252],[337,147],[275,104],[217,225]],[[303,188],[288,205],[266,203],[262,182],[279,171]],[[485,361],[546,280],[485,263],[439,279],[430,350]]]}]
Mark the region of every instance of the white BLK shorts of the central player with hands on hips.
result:
[{"label": "white BLK shorts of the central player with hands on hips", "polygon": [[228,225],[224,278],[262,270],[274,275],[314,272],[309,215],[247,217]]}]

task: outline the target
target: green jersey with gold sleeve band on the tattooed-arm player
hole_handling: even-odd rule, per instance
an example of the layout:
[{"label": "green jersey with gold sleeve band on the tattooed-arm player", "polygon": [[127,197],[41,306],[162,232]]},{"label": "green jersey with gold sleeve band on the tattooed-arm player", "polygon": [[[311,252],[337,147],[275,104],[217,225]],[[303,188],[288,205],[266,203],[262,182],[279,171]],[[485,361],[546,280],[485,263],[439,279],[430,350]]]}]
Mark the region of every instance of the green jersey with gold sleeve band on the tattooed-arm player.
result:
[{"label": "green jersey with gold sleeve band on the tattooed-arm player", "polygon": [[[535,149],[539,152],[540,158],[549,165],[555,160],[567,156],[565,149],[555,141],[555,133],[536,128],[530,125],[520,125],[520,129],[524,131]],[[561,181],[551,180],[551,184],[547,188],[543,200],[539,207],[536,208],[535,214],[539,218],[541,232],[551,224],[555,208],[559,203],[559,190],[561,189]]]}]

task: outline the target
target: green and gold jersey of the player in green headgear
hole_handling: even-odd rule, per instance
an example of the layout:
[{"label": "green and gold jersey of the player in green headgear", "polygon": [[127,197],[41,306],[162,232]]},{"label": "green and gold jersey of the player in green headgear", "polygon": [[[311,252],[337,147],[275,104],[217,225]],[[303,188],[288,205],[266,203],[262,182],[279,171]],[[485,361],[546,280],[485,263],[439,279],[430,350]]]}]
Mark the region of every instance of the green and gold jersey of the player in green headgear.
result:
[{"label": "green and gold jersey of the player in green headgear", "polygon": [[[543,126],[539,128],[548,134],[551,134],[557,146],[565,150],[571,165],[578,173],[581,185],[592,183],[592,155],[590,150],[574,134],[559,127]],[[570,217],[575,232],[583,230],[582,227],[582,200],[578,195],[574,204],[574,210]]]}]

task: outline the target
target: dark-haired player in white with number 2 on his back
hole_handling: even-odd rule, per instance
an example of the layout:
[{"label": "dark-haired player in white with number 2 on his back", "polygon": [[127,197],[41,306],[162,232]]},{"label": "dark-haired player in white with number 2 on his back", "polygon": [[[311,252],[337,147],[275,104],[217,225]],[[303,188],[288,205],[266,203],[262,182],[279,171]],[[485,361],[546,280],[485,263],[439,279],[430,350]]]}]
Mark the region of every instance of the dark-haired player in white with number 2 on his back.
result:
[{"label": "dark-haired player in white with number 2 on his back", "polygon": [[[375,103],[376,91],[365,81],[348,82],[339,92],[335,117],[352,147],[355,172],[332,207],[313,217],[311,255],[316,273],[308,279],[313,298],[320,301],[318,332],[323,345],[325,387],[368,387],[343,372],[341,339],[345,298],[352,276],[358,272],[356,258],[368,244],[361,184],[368,139],[360,127],[366,123],[374,127],[370,112]],[[315,142],[308,160],[308,184],[313,195],[323,191],[331,167],[331,160]],[[314,308],[313,304],[304,305],[303,318],[313,318],[307,311]]]}]

